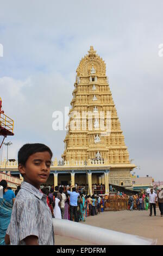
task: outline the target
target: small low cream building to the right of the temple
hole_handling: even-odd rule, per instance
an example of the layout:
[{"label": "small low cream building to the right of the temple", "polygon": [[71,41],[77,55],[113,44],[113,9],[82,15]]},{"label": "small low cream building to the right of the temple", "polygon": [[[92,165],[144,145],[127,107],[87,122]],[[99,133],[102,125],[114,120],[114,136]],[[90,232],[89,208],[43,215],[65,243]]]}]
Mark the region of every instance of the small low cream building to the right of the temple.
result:
[{"label": "small low cream building to the right of the temple", "polygon": [[133,184],[133,190],[140,191],[142,189],[146,190],[147,188],[152,188],[154,179],[148,175],[146,177],[131,175],[131,181]]}]

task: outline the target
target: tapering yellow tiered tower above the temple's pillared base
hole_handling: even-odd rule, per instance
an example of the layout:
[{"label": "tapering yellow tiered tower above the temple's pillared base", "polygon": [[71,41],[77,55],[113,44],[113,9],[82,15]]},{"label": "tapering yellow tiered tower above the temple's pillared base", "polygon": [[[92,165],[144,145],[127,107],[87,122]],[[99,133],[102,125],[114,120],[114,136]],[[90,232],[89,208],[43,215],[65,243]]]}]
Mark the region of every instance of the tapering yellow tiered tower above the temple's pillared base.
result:
[{"label": "tapering yellow tiered tower above the temple's pillared base", "polygon": [[[68,162],[100,159],[108,164],[124,166],[130,163],[129,154],[106,77],[106,65],[93,46],[88,53],[76,71],[69,130],[64,140],[62,159]],[[101,129],[100,113],[104,114],[105,126],[107,118],[110,118],[108,135],[106,129],[105,132]]]}]

